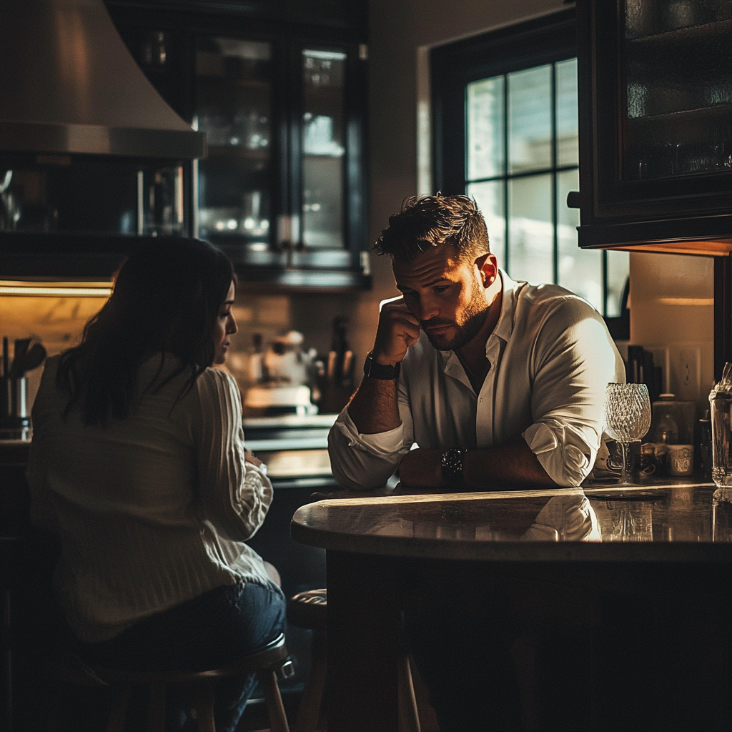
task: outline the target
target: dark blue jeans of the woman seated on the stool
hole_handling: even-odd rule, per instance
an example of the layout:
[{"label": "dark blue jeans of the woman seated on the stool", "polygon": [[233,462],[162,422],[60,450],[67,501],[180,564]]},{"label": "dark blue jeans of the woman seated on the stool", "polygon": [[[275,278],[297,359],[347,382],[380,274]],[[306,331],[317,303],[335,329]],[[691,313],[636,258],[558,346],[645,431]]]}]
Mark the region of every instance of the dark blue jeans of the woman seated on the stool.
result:
[{"label": "dark blue jeans of the woman seated on the stool", "polygon": [[[212,589],[163,613],[139,621],[102,643],[81,643],[89,663],[138,671],[207,671],[264,646],[285,630],[285,596],[274,584],[240,582]],[[216,729],[234,732],[256,676],[217,681]],[[140,714],[145,702],[141,700]],[[166,728],[181,728],[187,700],[171,695]],[[135,720],[136,722],[137,720]]]}]

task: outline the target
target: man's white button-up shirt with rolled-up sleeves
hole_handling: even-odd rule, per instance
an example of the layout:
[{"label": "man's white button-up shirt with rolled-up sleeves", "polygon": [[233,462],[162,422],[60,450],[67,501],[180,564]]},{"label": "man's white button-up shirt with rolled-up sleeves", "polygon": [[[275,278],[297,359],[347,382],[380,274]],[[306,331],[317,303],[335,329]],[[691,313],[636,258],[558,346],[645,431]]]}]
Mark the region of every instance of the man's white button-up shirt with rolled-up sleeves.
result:
[{"label": "man's white button-up shirt with rolled-up sleeves", "polygon": [[500,270],[503,302],[485,343],[478,394],[458,355],[424,332],[399,377],[394,430],[365,435],[340,413],[329,435],[333,475],[348,488],[384,485],[409,449],[494,447],[522,435],[557,485],[579,485],[594,464],[605,389],[625,367],[602,315],[558,285],[514,282]]}]

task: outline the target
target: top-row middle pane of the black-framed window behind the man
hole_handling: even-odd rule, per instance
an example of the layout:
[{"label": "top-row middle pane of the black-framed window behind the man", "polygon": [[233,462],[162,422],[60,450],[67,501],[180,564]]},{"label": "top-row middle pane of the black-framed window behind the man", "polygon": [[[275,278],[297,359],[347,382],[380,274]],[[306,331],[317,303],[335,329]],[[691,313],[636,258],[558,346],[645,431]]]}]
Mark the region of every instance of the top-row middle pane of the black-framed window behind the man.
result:
[{"label": "top-row middle pane of the black-framed window behind the man", "polygon": [[551,66],[508,75],[509,171],[551,166]]}]

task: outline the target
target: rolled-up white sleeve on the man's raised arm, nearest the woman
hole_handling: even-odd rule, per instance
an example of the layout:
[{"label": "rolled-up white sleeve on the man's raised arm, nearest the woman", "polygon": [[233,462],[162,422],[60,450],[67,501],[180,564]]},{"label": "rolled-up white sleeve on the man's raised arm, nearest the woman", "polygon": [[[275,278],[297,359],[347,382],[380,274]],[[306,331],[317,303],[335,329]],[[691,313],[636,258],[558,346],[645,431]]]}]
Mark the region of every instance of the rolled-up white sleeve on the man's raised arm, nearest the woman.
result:
[{"label": "rolled-up white sleeve on the man's raised arm, nearest the woman", "polygon": [[402,423],[387,432],[359,433],[348,407],[338,415],[328,436],[328,452],[333,477],[340,485],[352,490],[379,488],[394,474],[402,455],[409,452],[414,429],[401,378],[398,398]]}]

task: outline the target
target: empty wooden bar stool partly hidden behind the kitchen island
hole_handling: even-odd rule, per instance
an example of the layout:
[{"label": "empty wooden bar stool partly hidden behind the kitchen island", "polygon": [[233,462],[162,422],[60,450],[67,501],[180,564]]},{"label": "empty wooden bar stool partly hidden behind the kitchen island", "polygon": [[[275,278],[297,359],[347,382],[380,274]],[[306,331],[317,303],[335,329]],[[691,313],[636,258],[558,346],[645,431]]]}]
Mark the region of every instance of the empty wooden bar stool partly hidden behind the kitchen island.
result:
[{"label": "empty wooden bar stool partly hidden behind the kitchen island", "polygon": [[[328,591],[326,589],[300,592],[288,600],[287,619],[293,625],[313,631],[310,678],[302,693],[294,732],[315,732],[318,729],[321,701],[327,672]],[[397,666],[399,695],[399,731],[419,732],[419,714],[414,698],[409,658],[400,654]]]}]

